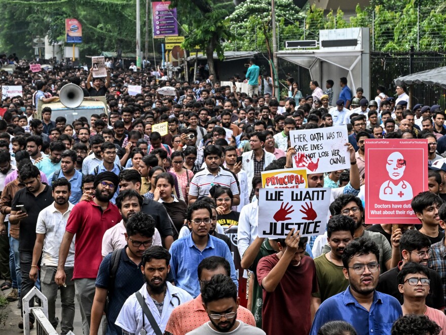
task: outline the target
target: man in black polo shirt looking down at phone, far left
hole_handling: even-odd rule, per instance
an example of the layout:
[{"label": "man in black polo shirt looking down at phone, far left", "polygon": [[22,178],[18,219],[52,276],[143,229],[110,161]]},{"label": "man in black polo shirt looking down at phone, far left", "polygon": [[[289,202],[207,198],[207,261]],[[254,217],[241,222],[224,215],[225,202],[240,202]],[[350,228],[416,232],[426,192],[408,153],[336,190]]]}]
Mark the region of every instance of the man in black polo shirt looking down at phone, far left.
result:
[{"label": "man in black polo shirt looking down at phone, far left", "polygon": [[[34,287],[34,281],[29,278],[31,267],[39,266],[32,263],[32,248],[35,243],[35,226],[39,213],[53,202],[51,187],[41,182],[39,169],[31,164],[24,164],[19,171],[20,181],[24,188],[17,191],[12,200],[9,222],[13,225],[20,224],[19,252],[20,272],[22,275],[21,296],[25,296]],[[20,210],[17,205],[22,205]],[[69,247],[69,245],[68,245]],[[68,253],[68,252],[67,252]],[[32,266],[34,265],[34,266]],[[33,299],[29,302],[32,307]],[[29,327],[32,328],[34,315],[29,315]],[[23,329],[23,321],[19,322],[19,328]]]}]

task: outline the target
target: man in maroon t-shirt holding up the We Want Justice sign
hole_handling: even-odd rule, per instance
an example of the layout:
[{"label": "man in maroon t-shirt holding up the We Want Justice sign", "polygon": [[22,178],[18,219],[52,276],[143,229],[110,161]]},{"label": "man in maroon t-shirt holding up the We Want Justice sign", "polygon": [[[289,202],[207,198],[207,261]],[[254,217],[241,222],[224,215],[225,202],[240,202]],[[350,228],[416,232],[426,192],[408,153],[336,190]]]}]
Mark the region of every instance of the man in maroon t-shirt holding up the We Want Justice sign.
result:
[{"label": "man in maroon t-shirt holding up the We Want Justice sign", "polygon": [[277,239],[280,251],[257,264],[255,279],[263,288],[262,328],[269,335],[310,331],[316,312],[311,295],[318,287],[314,261],[305,255],[307,241],[292,228],[286,239]]}]

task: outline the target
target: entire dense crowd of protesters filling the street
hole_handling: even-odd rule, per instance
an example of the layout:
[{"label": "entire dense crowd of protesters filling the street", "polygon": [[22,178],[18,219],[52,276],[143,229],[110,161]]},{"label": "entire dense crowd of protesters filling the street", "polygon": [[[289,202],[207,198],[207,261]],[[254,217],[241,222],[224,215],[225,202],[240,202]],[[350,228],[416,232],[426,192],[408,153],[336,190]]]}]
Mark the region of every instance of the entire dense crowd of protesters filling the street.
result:
[{"label": "entire dense crowd of protesters filling the street", "polygon": [[[308,96],[300,89],[308,83],[288,78],[288,96],[277,98],[271,77],[249,62],[232,86],[212,75],[177,81],[160,68],[108,69],[106,78],[93,78],[93,68],[0,69],[2,85],[23,87],[3,97],[0,120],[8,300],[23,308],[21,297],[38,287],[62,334],[75,313],[84,335],[446,334],[444,106],[409,110],[403,86],[379,86],[367,99],[346,78],[326,89],[311,81]],[[71,124],[52,117],[50,103],[68,83],[105,96],[107,113]],[[130,95],[129,85],[141,93]],[[157,91],[166,86],[175,95]],[[42,119],[39,101],[49,104]],[[152,131],[164,122],[166,135]],[[307,176],[308,188],[331,189],[326,231],[259,237],[261,174],[295,168],[290,133],[333,126],[348,133],[340,155],[350,169]],[[410,198],[415,226],[364,223],[373,139],[427,139],[428,188]],[[277,222],[292,211],[279,212]]]}]

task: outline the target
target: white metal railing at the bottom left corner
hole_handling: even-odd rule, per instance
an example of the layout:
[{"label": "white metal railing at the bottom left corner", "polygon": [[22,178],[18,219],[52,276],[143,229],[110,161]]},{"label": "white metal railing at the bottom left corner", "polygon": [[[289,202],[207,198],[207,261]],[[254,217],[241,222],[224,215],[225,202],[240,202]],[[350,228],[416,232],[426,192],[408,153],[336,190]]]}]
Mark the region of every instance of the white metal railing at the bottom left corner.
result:
[{"label": "white metal railing at the bottom left corner", "polygon": [[[29,307],[29,301],[34,299],[34,296],[38,297],[42,301],[42,306]],[[35,328],[38,335],[59,335],[54,329],[51,322],[48,320],[48,299],[39,291],[35,286],[26,294],[22,299],[23,306],[23,333],[29,335],[29,315],[32,313],[35,318]],[[66,335],[75,335],[72,331],[69,331]]]}]

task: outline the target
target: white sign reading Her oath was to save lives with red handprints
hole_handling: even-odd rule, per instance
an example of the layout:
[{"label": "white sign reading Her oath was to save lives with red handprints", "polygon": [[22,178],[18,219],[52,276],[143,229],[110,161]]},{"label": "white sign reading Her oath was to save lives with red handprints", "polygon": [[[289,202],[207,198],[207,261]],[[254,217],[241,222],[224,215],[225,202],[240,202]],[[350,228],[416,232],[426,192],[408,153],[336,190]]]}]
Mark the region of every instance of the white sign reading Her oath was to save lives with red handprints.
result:
[{"label": "white sign reading Her oath was to save lives with red handprints", "polygon": [[346,126],[291,130],[289,136],[297,152],[293,168],[306,168],[309,174],[350,169]]}]

